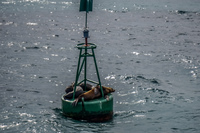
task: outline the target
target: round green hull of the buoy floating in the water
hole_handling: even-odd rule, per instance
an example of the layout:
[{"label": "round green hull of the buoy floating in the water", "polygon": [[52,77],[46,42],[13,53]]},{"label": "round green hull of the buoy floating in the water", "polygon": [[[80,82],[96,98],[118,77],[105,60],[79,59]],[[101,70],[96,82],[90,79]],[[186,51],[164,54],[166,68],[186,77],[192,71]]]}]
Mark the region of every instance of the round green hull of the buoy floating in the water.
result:
[{"label": "round green hull of the buoy floating in the water", "polygon": [[78,102],[75,107],[72,106],[73,100],[65,100],[63,96],[61,97],[62,112],[67,117],[92,122],[104,122],[111,120],[113,117],[112,94],[108,95],[109,100],[102,97],[90,101]]}]

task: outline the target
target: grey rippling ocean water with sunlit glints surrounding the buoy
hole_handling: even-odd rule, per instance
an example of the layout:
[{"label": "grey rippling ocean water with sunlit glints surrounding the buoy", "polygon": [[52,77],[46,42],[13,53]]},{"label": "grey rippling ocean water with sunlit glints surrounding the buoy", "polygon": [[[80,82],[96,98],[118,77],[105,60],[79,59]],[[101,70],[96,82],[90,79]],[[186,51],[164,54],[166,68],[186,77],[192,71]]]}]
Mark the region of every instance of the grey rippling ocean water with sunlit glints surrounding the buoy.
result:
[{"label": "grey rippling ocean water with sunlit glints surrounding the buoy", "polygon": [[116,90],[106,123],[61,111],[84,22],[79,0],[0,0],[0,132],[200,132],[199,0],[94,0],[89,42]]}]

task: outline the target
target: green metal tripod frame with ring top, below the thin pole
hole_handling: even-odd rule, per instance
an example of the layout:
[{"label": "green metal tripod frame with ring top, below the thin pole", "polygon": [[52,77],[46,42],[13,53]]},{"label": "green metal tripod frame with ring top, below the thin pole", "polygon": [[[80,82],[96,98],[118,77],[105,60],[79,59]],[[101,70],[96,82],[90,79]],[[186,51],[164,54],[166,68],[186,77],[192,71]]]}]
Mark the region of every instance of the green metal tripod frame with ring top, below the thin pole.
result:
[{"label": "green metal tripod frame with ring top, below the thin pole", "polygon": [[[80,44],[77,44],[76,47],[80,50],[80,53],[79,53],[77,71],[76,71],[76,79],[75,79],[75,84],[74,84],[73,100],[75,98],[76,86],[78,86],[79,84],[84,82],[85,90],[86,90],[86,82],[87,81],[91,82],[91,83],[98,84],[101,88],[102,97],[104,97],[103,89],[102,89],[102,86],[101,86],[101,80],[100,80],[100,76],[99,76],[99,71],[98,71],[98,67],[97,67],[97,63],[96,63],[95,53],[94,53],[94,49],[96,49],[97,46],[93,43],[88,43],[87,46],[85,45],[85,43],[80,43]],[[88,53],[88,50],[91,50],[92,53]],[[88,57],[93,57],[98,82],[87,79],[87,58]],[[82,61],[82,63],[81,63],[81,61]],[[79,77],[80,77],[80,73],[83,69],[83,66],[84,66],[84,79],[82,81],[78,82]]]}]

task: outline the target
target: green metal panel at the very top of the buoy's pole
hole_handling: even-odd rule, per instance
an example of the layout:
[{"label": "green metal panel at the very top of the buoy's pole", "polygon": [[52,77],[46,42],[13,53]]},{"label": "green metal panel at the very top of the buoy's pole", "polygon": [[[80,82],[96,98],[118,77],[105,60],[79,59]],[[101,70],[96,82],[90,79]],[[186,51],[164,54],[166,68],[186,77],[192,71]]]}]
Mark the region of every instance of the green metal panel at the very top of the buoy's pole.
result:
[{"label": "green metal panel at the very top of the buoy's pole", "polygon": [[92,11],[93,0],[80,0],[79,11]]}]

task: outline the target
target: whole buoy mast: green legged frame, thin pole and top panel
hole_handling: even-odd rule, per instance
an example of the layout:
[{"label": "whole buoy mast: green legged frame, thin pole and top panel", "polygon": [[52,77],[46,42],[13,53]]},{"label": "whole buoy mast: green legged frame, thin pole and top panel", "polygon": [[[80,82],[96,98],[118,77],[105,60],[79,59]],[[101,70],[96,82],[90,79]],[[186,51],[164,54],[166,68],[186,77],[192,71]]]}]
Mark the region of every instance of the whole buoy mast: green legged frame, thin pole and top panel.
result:
[{"label": "whole buoy mast: green legged frame, thin pole and top panel", "polygon": [[[77,72],[76,72],[76,79],[75,79],[75,84],[74,84],[73,99],[75,98],[76,87],[78,85],[80,85],[82,82],[84,82],[84,85],[85,85],[84,88],[86,90],[87,81],[99,85],[100,89],[101,89],[102,97],[104,97],[103,89],[102,89],[102,86],[101,86],[101,80],[100,80],[100,76],[99,76],[99,71],[98,71],[98,67],[97,67],[97,63],[96,63],[95,53],[94,53],[94,49],[96,49],[97,46],[93,43],[88,43],[89,30],[88,30],[88,27],[87,27],[87,16],[88,16],[89,11],[92,11],[92,4],[93,4],[93,0],[80,0],[80,10],[79,11],[80,12],[81,11],[86,12],[86,14],[85,14],[85,28],[84,28],[84,31],[83,31],[83,37],[85,38],[85,43],[77,44],[77,46],[76,46],[80,50],[80,54],[79,54],[79,60],[78,60],[78,66],[77,66]],[[84,50],[84,53],[82,53],[83,50]],[[88,50],[91,50],[92,53],[88,53]],[[82,57],[83,57],[83,59],[82,59]],[[98,82],[87,79],[87,57],[93,57],[93,59],[94,59],[94,64],[95,64],[95,68],[96,68]],[[82,59],[82,63],[80,64],[81,59]],[[79,76],[80,76],[80,73],[82,71],[83,65],[84,65],[84,79],[78,83]]]}]

